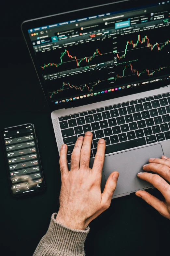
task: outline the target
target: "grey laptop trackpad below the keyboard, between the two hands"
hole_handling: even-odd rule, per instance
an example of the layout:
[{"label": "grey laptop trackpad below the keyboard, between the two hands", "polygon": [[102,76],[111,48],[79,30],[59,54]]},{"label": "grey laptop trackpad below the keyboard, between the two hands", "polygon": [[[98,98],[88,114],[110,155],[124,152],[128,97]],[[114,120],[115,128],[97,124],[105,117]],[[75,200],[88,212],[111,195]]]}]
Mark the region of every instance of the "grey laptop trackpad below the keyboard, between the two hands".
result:
[{"label": "grey laptop trackpad below the keyboard, between the two hands", "polygon": [[150,183],[139,179],[137,173],[143,172],[142,167],[148,163],[149,158],[161,158],[162,155],[161,144],[156,144],[106,156],[103,166],[105,179],[113,171],[120,173],[114,196],[124,196],[124,193],[130,194],[135,190],[151,187]]}]

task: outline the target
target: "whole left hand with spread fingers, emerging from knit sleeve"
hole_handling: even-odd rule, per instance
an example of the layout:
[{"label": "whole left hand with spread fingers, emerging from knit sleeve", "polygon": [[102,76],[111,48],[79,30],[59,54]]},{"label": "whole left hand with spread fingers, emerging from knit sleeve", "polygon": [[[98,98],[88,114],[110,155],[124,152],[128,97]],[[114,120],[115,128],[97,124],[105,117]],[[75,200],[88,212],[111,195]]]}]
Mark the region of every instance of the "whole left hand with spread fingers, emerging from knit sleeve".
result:
[{"label": "whole left hand with spread fingers, emerging from knit sleeve", "polygon": [[60,150],[62,186],[56,220],[73,229],[85,230],[93,219],[110,206],[119,177],[118,172],[112,172],[101,193],[106,143],[104,139],[99,139],[92,169],[89,167],[91,143],[90,131],[78,138],[71,156],[70,171],[67,166],[67,145],[63,144]]}]

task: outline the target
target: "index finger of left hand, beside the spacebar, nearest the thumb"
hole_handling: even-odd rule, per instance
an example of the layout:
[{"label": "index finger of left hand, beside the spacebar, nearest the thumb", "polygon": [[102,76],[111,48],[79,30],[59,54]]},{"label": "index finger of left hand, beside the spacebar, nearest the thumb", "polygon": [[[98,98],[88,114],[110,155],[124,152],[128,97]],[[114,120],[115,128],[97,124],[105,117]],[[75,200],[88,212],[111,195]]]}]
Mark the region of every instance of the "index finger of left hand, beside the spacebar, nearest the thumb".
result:
[{"label": "index finger of left hand, beside the spacebar, nearest the thumb", "polygon": [[[106,149],[106,142],[104,139],[100,139],[97,144],[97,152],[94,158],[94,163],[93,163],[93,172],[96,172],[97,174],[102,175],[102,169],[103,169],[103,164],[105,160],[105,149]],[[99,176],[101,178],[101,175]]]}]

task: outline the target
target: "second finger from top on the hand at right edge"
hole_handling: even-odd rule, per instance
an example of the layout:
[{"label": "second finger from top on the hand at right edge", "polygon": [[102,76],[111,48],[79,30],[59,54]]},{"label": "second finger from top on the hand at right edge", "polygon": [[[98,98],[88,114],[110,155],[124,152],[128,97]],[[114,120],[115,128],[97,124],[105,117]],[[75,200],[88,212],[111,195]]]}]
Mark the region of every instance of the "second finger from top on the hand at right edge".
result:
[{"label": "second finger from top on the hand at right edge", "polygon": [[[163,177],[163,179],[166,179],[167,181],[170,182],[170,168],[167,165],[159,163],[161,161],[163,162],[166,160],[155,158],[153,161],[154,162],[152,162],[152,163],[145,164],[143,166],[143,170],[156,172],[156,173],[160,174]],[[150,159],[149,159],[149,162],[151,162]]]}]

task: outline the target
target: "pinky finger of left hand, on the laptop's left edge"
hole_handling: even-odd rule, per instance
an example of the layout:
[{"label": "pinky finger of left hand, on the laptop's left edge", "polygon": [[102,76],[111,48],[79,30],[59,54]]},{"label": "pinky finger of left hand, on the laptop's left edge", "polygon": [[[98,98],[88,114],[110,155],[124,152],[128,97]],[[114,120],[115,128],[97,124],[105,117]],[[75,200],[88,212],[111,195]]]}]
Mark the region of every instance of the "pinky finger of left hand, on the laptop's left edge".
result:
[{"label": "pinky finger of left hand, on the laptop's left edge", "polygon": [[60,171],[61,175],[68,174],[68,165],[67,165],[67,145],[63,144],[60,149]]}]

